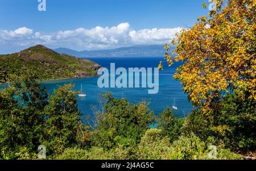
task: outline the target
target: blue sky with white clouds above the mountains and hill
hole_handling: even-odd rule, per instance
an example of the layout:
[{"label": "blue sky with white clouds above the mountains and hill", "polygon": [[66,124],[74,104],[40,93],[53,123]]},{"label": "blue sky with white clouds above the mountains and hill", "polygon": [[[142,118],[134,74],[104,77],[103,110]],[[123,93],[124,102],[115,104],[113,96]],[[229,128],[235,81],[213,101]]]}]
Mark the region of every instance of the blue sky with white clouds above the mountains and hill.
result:
[{"label": "blue sky with white clouds above the mountains and hill", "polygon": [[[0,1],[0,53],[40,43],[50,48],[107,49],[162,44],[192,26],[208,0]],[[100,26],[100,27],[97,27]],[[156,29],[157,28],[157,29]],[[145,39],[147,37],[147,39]]]}]

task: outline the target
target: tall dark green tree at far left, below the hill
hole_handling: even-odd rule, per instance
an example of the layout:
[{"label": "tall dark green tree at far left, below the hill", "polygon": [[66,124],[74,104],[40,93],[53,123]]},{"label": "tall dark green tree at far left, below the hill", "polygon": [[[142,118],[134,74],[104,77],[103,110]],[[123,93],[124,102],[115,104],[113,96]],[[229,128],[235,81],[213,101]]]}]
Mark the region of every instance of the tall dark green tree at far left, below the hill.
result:
[{"label": "tall dark green tree at far left, below the hill", "polygon": [[3,159],[15,158],[15,152],[24,147],[28,152],[36,151],[43,140],[46,118],[44,106],[48,104],[48,93],[35,81],[30,73],[22,81],[0,91],[0,150]]}]

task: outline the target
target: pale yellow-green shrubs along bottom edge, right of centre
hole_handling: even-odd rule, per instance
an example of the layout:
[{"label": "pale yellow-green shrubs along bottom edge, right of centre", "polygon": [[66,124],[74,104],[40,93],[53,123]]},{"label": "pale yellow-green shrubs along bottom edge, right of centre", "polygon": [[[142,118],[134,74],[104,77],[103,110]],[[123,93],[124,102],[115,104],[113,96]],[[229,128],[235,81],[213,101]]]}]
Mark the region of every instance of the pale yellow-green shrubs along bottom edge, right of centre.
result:
[{"label": "pale yellow-green shrubs along bottom edge, right of centre", "polygon": [[162,137],[162,130],[151,129],[142,137],[139,144],[138,158],[143,160],[209,160],[209,159],[241,159],[241,155],[223,149],[223,145],[214,146],[213,137],[207,142],[201,141],[193,132],[189,136],[179,136],[170,143]]}]

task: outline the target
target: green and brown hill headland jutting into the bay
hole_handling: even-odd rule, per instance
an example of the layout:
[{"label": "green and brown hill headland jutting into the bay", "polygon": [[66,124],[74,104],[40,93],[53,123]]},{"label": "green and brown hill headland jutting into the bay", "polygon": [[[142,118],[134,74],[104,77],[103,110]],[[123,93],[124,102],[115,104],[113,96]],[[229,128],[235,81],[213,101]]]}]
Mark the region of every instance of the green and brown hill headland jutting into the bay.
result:
[{"label": "green and brown hill headland jutting into the bay", "polygon": [[[35,72],[40,80],[80,78],[97,74],[101,66],[93,61],[60,55],[43,45],[36,45],[18,53],[0,55],[0,74]],[[6,80],[1,79],[1,82]]]}]

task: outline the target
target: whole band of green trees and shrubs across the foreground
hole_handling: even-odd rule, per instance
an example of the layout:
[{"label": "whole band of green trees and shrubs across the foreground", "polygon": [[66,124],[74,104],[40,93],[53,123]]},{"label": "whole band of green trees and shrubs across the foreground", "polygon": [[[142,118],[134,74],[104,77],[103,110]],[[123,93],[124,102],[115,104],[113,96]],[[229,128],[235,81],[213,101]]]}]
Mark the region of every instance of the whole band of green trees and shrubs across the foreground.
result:
[{"label": "whole band of green trees and shrubs across the foreground", "polygon": [[39,145],[46,159],[241,159],[238,151],[255,150],[255,100],[227,95],[215,121],[200,110],[180,119],[167,108],[156,117],[147,102],[107,93],[89,126],[72,85],[49,94],[36,79],[13,78],[0,91],[1,159],[38,159]]}]

